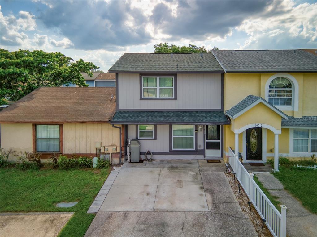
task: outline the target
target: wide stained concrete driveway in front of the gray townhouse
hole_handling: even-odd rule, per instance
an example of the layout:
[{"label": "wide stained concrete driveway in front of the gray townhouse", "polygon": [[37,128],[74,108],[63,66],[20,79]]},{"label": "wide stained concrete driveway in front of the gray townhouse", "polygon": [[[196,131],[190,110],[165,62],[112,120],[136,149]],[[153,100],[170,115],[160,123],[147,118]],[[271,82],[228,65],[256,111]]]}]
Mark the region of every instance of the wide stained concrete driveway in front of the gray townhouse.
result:
[{"label": "wide stained concrete driveway in front of the gray townhouse", "polygon": [[257,236],[225,170],[205,160],[125,163],[85,236]]}]

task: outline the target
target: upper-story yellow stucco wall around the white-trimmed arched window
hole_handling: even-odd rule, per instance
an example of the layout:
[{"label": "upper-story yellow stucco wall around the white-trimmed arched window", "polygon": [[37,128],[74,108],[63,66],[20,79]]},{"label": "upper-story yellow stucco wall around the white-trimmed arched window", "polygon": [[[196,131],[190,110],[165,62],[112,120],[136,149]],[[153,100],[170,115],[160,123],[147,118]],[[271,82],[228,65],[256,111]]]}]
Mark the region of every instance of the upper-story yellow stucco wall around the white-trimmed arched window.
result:
[{"label": "upper-story yellow stucco wall around the white-trimmed arched window", "polygon": [[[289,116],[316,116],[317,73],[288,73],[298,82],[298,111],[283,111]],[[265,84],[273,73],[225,73],[224,111],[232,108],[249,94],[265,98]]]}]

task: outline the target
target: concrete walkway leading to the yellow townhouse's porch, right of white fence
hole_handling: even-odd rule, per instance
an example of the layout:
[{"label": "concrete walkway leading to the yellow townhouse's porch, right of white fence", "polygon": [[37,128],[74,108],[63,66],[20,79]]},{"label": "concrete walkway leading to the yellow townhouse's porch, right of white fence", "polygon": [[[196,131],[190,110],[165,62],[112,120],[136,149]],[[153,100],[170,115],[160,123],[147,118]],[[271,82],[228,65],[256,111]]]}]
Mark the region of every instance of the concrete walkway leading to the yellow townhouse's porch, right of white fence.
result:
[{"label": "concrete walkway leading to the yellow townhouse's porch, right of white fence", "polygon": [[[256,176],[268,191],[279,197],[281,204],[287,207],[286,232],[288,237],[315,237],[317,235],[317,215],[309,212],[271,173],[256,173]],[[308,184],[307,184],[308,185]]]}]

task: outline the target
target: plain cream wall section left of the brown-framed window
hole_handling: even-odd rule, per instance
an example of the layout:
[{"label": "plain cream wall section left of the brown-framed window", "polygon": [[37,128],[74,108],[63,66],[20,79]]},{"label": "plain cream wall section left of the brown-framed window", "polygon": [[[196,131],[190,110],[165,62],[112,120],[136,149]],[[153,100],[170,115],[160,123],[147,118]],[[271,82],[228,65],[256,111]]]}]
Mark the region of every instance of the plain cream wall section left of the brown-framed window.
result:
[{"label": "plain cream wall section left of the brown-framed window", "polygon": [[[32,151],[32,124],[1,124],[1,148],[13,149],[15,153]],[[16,156],[10,155],[9,161]]]}]

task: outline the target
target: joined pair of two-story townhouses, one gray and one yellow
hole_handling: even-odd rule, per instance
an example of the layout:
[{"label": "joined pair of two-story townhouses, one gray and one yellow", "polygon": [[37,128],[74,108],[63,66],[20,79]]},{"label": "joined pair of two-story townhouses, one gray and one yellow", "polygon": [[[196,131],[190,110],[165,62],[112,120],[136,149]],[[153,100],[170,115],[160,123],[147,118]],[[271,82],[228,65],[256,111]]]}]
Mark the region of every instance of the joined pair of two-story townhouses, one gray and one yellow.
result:
[{"label": "joined pair of two-story townhouses, one gray and one yellow", "polygon": [[317,152],[314,54],[125,53],[109,72],[117,89],[111,123],[125,125],[125,138],[139,139],[154,159],[226,157],[228,147],[248,162]]}]

